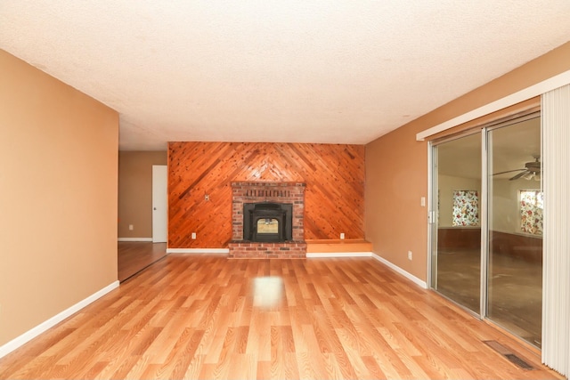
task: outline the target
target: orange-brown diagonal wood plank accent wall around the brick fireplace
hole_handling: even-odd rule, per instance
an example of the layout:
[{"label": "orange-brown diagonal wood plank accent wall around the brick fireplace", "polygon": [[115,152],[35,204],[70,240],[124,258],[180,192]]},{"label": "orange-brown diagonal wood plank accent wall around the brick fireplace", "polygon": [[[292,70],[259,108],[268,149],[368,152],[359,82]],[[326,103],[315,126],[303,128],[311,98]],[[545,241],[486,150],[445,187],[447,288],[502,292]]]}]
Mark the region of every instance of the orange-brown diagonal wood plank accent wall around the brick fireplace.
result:
[{"label": "orange-brown diagonal wood plank accent wall around the brick fireplace", "polygon": [[235,181],[305,182],[305,239],[364,239],[363,145],[170,142],[168,247],[227,247]]}]

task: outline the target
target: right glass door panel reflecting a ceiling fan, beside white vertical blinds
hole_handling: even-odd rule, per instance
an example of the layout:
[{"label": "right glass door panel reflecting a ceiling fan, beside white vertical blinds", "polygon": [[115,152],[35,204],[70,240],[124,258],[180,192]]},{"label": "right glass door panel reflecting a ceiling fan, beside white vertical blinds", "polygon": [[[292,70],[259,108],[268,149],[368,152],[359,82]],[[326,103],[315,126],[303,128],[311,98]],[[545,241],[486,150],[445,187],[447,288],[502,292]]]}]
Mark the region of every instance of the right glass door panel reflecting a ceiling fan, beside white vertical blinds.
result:
[{"label": "right glass door panel reflecting a ceiling fan, beside white vertical blinds", "polygon": [[487,132],[487,318],[542,342],[540,116]]}]

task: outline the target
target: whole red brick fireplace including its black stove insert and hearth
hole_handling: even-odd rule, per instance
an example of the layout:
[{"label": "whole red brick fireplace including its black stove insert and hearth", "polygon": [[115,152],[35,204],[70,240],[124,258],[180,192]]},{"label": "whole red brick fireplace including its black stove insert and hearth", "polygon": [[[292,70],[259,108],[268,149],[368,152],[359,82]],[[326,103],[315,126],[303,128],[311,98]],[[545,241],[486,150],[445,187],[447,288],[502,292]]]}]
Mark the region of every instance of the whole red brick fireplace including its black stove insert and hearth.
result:
[{"label": "whole red brick fireplace including its black stove insert and hearth", "polygon": [[[255,215],[257,208],[263,209],[292,209],[288,217],[267,217],[269,222],[279,222],[280,228],[286,230],[287,226],[281,223],[290,222],[288,234],[280,235],[279,241],[252,241],[252,237],[264,236],[251,232],[256,229],[257,222],[263,224],[265,219]],[[279,207],[277,206],[279,205]],[[249,211],[248,211],[249,210]],[[263,215],[263,214],[261,214]],[[244,217],[245,216],[245,217]],[[303,182],[232,182],[232,241],[228,247],[230,257],[235,258],[305,258],[306,243],[304,230],[305,217],[305,183]],[[263,217],[265,218],[265,216]],[[252,225],[244,225],[251,222]],[[244,230],[247,237],[244,238]],[[269,236],[265,235],[265,236]],[[276,239],[277,240],[277,239]]]}]

